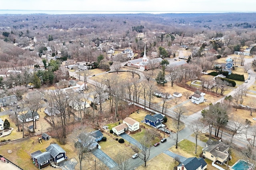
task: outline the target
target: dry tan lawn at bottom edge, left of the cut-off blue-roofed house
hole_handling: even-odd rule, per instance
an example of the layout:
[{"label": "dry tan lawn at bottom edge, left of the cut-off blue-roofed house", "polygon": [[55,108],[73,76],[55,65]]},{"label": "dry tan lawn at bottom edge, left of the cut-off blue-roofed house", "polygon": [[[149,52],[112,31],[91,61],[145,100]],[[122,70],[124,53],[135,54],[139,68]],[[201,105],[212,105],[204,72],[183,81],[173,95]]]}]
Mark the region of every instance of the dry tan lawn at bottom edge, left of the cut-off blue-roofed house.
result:
[{"label": "dry tan lawn at bottom edge, left of the cut-off blue-roofed house", "polygon": [[146,167],[144,164],[139,166],[137,170],[172,170],[178,165],[178,162],[175,162],[174,158],[161,153],[150,159],[147,164],[148,165]]}]

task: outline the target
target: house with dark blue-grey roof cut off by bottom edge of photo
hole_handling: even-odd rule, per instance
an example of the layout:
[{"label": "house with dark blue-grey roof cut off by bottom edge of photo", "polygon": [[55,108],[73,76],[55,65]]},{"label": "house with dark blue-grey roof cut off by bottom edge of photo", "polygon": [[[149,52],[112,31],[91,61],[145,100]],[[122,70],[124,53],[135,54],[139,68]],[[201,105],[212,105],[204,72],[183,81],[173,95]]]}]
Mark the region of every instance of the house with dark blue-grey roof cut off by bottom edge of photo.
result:
[{"label": "house with dark blue-grey roof cut off by bottom edge of photo", "polygon": [[203,158],[187,158],[184,162],[177,166],[177,170],[205,170],[207,163]]}]

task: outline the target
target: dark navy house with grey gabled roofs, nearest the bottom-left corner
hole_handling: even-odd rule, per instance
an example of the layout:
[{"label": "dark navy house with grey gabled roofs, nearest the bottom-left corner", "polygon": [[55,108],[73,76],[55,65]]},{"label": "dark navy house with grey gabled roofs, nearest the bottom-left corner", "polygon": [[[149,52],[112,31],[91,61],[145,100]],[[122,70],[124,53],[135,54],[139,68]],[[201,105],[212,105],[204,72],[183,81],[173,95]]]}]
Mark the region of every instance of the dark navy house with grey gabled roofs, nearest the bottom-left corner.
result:
[{"label": "dark navy house with grey gabled roofs, nearest the bottom-left corner", "polygon": [[66,151],[58,144],[51,144],[46,148],[46,152],[37,150],[30,154],[32,160],[35,162],[37,168],[45,168],[50,162],[59,163],[67,159]]}]

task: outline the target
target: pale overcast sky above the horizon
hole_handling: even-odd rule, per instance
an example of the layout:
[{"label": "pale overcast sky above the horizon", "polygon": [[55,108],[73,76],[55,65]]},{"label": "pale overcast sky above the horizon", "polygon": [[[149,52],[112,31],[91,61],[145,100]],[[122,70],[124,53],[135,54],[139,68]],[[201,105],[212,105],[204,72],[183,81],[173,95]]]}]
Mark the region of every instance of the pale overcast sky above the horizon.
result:
[{"label": "pale overcast sky above the horizon", "polygon": [[0,0],[0,10],[256,12],[256,0]]}]

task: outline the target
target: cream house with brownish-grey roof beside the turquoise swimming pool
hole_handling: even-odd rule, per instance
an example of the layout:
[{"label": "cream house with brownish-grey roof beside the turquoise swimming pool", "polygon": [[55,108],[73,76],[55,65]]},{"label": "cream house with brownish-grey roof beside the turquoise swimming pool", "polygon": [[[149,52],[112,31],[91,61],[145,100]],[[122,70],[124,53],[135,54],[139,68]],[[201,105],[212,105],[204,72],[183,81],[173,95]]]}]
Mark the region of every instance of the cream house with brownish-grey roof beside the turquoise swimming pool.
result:
[{"label": "cream house with brownish-grey roof beside the turquoise swimming pool", "polygon": [[228,149],[229,145],[209,139],[206,148],[203,149],[203,156],[212,162],[224,164],[228,160]]}]

